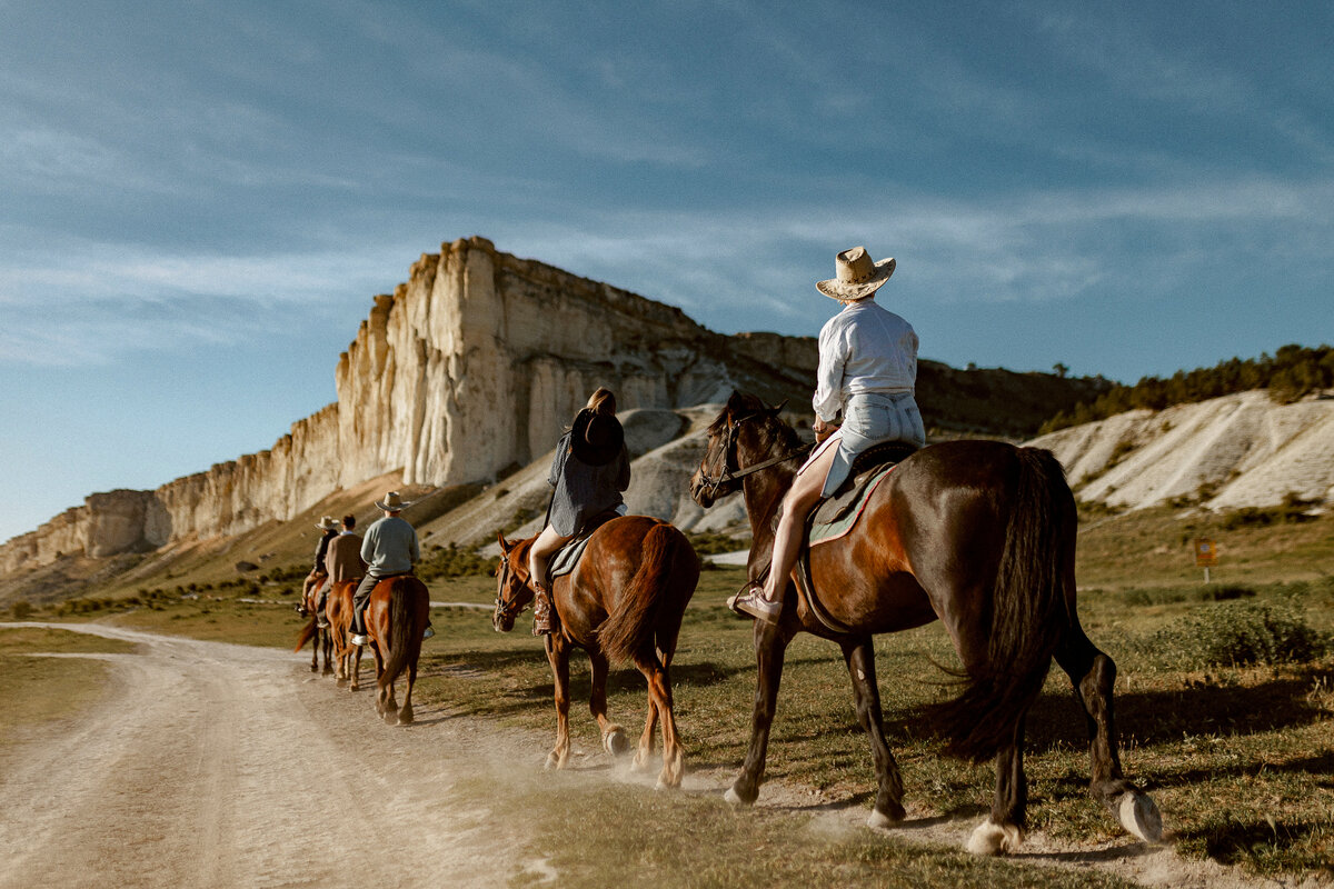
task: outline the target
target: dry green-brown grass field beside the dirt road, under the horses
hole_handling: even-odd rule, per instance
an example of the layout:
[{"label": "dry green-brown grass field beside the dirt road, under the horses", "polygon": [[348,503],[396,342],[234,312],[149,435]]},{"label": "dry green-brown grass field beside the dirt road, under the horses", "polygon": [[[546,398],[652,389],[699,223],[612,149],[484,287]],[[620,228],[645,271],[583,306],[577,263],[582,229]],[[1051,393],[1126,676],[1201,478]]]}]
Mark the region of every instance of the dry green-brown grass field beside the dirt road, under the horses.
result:
[{"label": "dry green-brown grass field beside the dirt road, under the horses", "polygon": [[[1081,614],[1119,666],[1122,761],[1154,794],[1170,841],[1187,861],[1227,865],[1249,878],[1334,880],[1334,577],[1327,573],[1334,518],[1227,525],[1227,517],[1169,509],[1086,517]],[[1197,536],[1219,541],[1222,562],[1209,586],[1190,562]],[[748,738],[750,621],[722,604],[740,581],[738,569],[703,573],[674,666],[687,769],[699,774],[734,773]],[[436,601],[478,605],[495,593],[484,576],[436,580],[431,590]],[[87,613],[67,606],[60,620],[269,646],[291,645],[301,625],[283,585],[259,594],[248,588],[189,594],[199,597],[144,590],[133,604],[89,601]],[[49,616],[43,609],[33,618]],[[530,761],[516,764],[540,770],[555,730],[550,670],[524,621],[498,634],[488,617],[486,609],[436,609],[419,701],[543,738]],[[0,636],[7,652],[0,706],[8,710],[32,682],[68,685],[69,677],[36,678],[41,670],[20,665],[28,658],[13,656],[12,638]],[[954,662],[939,625],[880,637],[876,654],[910,816],[980,820],[990,766],[943,757],[924,729],[928,706],[946,693],[934,664]],[[1123,850],[1130,841],[1087,796],[1082,717],[1059,672],[1029,721],[1030,828],[1045,864],[978,861],[956,846],[903,842],[850,818],[842,824],[852,826],[830,834],[823,816],[868,812],[874,776],[842,657],[828,642],[799,637],[790,649],[770,784],[760,792],[762,804],[780,802],[754,810],[731,810],[708,794],[655,794],[591,780],[608,757],[587,717],[587,668],[576,660],[571,722],[582,756],[572,773],[550,776],[530,800],[536,844],[560,870],[562,885],[655,877],[664,885],[1122,885],[1117,873],[1091,866],[1102,850]],[[614,672],[610,708],[638,730],[644,714],[638,672]]]}]

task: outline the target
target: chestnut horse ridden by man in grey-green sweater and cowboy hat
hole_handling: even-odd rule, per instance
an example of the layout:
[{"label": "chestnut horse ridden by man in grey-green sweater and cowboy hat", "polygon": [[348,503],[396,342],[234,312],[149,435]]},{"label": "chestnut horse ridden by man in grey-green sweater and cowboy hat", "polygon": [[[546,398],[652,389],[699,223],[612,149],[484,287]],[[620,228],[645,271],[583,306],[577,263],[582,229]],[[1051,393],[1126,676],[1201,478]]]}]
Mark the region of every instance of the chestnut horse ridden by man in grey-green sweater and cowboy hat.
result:
[{"label": "chestnut horse ridden by man in grey-green sweater and cowboy hat", "polygon": [[[356,585],[354,584],[354,590]],[[351,613],[351,606],[348,608]],[[375,712],[390,725],[412,724],[412,685],[416,682],[422,633],[431,616],[431,593],[414,574],[386,577],[371,590],[366,605],[366,634],[375,653]],[[359,648],[359,646],[354,646]],[[360,662],[360,649],[358,650]],[[394,696],[394,682],[408,673],[403,706]],[[352,674],[354,689],[356,673]]]}]

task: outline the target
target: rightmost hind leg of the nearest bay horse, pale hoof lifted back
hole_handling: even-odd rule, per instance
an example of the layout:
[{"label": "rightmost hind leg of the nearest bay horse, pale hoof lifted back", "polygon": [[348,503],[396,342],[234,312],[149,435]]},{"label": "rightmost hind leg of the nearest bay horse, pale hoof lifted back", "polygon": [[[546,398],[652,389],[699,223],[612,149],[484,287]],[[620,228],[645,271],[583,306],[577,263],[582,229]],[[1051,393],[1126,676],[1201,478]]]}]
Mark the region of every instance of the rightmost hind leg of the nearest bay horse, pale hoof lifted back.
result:
[{"label": "rightmost hind leg of the nearest bay horse, pale hoof lifted back", "polygon": [[1158,842],[1162,838],[1158,805],[1121,772],[1113,714],[1117,664],[1089,641],[1078,622],[1057,649],[1057,662],[1070,674],[1075,700],[1083,708],[1089,726],[1089,753],[1093,761],[1090,792],[1131,834],[1146,842]]}]

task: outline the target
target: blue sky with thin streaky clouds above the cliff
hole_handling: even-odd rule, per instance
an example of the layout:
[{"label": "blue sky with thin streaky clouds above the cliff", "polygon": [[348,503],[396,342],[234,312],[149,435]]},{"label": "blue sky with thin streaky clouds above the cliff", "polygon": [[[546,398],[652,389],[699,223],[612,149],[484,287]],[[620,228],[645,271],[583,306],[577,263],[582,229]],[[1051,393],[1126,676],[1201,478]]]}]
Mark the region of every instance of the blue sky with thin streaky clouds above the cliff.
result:
[{"label": "blue sky with thin streaky clouds above the cliff", "polygon": [[1331,33],[1330,3],[0,0],[0,540],[268,448],[475,233],[794,335],[864,244],[956,367],[1334,341]]}]

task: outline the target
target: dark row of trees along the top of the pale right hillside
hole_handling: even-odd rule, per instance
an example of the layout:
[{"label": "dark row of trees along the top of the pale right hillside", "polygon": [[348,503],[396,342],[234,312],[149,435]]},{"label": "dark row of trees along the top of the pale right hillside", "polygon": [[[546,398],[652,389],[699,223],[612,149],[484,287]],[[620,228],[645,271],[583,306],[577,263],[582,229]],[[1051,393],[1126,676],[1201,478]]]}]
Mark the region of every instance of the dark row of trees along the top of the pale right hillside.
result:
[{"label": "dark row of trees along the top of the pale right hillside", "polygon": [[1042,435],[1106,420],[1125,411],[1162,411],[1174,404],[1207,401],[1234,392],[1269,389],[1269,397],[1291,404],[1310,392],[1334,388],[1334,348],[1285,345],[1270,357],[1229,359],[1211,368],[1178,371],[1169,379],[1141,377],[1134,385],[1117,384],[1094,401],[1081,401],[1042,424]]}]

